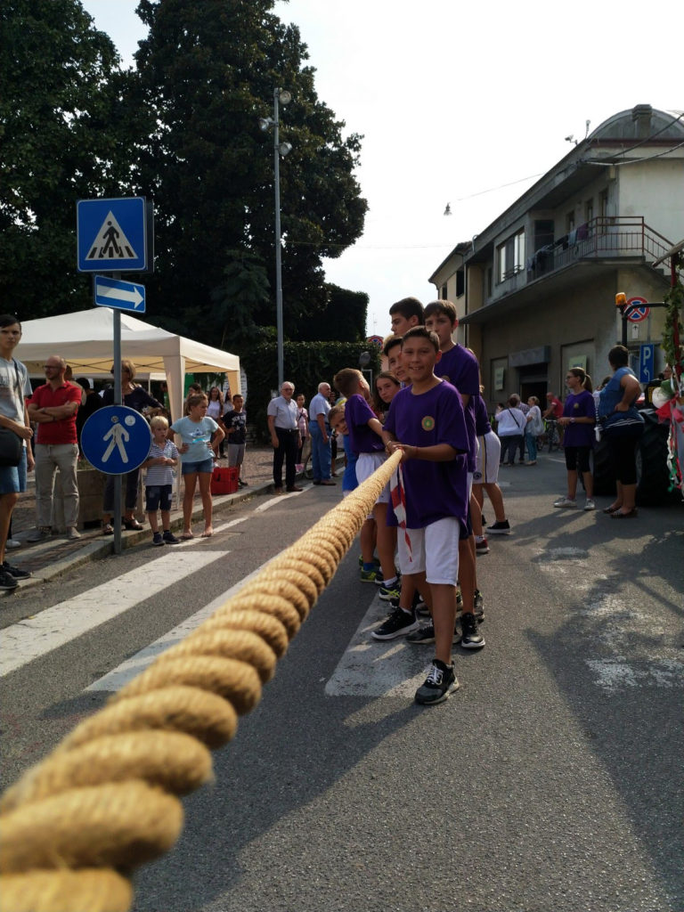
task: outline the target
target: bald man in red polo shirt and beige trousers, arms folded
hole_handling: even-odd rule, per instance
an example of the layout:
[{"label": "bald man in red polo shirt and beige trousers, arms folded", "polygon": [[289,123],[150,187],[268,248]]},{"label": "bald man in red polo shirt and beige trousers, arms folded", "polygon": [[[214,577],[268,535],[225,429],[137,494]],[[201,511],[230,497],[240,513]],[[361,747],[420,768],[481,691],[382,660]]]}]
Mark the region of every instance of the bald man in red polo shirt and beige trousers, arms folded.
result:
[{"label": "bald man in red polo shirt and beige trousers, arms folded", "polygon": [[67,538],[78,532],[78,437],[76,413],[80,387],[64,378],[67,362],[58,355],[46,358],[47,383],[37,387],[28,400],[28,417],[38,425],[36,440],[36,530],[27,542],[42,542],[52,534],[52,501],[55,472],[59,470],[64,495]]}]

